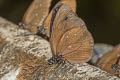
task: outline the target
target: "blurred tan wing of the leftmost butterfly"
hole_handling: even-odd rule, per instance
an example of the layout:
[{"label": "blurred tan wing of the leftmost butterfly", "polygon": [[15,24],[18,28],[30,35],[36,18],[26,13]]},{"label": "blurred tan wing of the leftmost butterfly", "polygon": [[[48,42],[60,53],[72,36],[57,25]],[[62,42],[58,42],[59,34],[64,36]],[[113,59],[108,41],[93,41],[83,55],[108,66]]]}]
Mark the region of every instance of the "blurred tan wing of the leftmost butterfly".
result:
[{"label": "blurred tan wing of the leftmost butterfly", "polygon": [[37,27],[42,26],[44,19],[49,13],[51,0],[34,0],[25,12],[22,24],[25,29],[37,33]]}]

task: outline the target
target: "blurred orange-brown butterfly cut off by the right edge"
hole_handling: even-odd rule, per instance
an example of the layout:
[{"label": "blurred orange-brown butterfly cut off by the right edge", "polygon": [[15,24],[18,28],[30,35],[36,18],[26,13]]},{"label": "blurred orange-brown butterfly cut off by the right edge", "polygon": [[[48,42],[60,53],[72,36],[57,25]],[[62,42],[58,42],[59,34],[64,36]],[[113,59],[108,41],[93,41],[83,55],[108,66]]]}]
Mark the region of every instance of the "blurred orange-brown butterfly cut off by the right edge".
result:
[{"label": "blurred orange-brown butterfly cut off by the right edge", "polygon": [[113,50],[110,50],[109,52],[107,52],[98,62],[98,66],[113,74],[116,75],[116,71],[117,71],[117,75],[120,75],[120,59],[119,59],[119,55],[120,54],[120,45],[116,46]]}]

